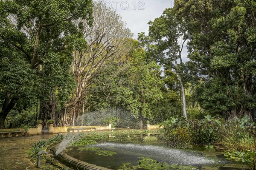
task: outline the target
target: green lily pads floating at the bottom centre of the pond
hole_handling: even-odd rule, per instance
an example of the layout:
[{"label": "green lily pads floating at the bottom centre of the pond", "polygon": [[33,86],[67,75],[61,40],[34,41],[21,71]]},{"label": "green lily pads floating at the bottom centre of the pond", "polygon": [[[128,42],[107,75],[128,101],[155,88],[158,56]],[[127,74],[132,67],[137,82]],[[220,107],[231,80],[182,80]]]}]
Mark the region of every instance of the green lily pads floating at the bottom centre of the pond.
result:
[{"label": "green lily pads floating at the bottom centre of the pond", "polygon": [[154,159],[140,157],[140,160],[138,161],[137,166],[130,166],[130,163],[122,164],[122,166],[119,168],[119,170],[169,170],[169,169],[175,169],[175,170],[193,170],[197,167],[192,166],[183,166],[183,165],[176,165],[176,164],[166,164],[158,162]]}]

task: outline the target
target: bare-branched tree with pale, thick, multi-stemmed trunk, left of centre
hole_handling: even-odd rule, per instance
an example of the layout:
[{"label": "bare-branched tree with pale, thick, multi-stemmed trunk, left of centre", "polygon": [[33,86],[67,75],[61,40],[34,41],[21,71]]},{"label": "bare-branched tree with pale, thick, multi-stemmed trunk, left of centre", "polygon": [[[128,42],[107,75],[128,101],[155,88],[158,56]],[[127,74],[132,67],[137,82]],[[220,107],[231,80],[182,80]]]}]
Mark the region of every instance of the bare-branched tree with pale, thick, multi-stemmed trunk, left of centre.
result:
[{"label": "bare-branched tree with pale, thick, multi-stemmed trunk, left of centre", "polygon": [[[84,97],[92,79],[106,61],[120,57],[129,52],[131,31],[125,27],[121,17],[113,9],[102,2],[95,2],[93,7],[93,26],[90,21],[77,20],[84,40],[87,41],[86,50],[75,50],[73,53],[73,76],[77,87],[73,90],[70,101],[61,111],[59,125],[75,125],[75,119],[84,113]],[[127,47],[125,47],[127,46]],[[67,121],[67,116],[70,118]]]}]

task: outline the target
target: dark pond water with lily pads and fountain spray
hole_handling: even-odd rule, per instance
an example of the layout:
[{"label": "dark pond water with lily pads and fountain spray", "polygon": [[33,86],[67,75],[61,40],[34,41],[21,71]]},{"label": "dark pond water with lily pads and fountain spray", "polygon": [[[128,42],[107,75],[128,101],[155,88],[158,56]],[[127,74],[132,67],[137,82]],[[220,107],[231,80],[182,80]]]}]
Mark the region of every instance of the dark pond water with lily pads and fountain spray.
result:
[{"label": "dark pond water with lily pads and fountain spray", "polygon": [[118,170],[124,163],[135,166],[143,158],[176,165],[191,165],[197,169],[236,169],[239,163],[226,160],[224,152],[206,147],[173,149],[157,141],[157,135],[109,136],[96,144],[68,147],[64,153],[78,160]]}]

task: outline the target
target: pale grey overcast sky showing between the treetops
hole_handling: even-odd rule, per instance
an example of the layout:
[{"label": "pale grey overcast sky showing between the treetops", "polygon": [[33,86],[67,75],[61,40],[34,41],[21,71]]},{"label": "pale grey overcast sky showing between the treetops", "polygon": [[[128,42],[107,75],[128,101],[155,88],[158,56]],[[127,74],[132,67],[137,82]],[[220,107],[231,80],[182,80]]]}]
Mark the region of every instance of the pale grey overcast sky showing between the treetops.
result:
[{"label": "pale grey overcast sky showing between the treetops", "polygon": [[[121,15],[134,34],[134,39],[137,39],[139,32],[148,35],[148,22],[160,17],[166,8],[174,6],[174,0],[104,0],[104,3]],[[183,62],[188,61],[186,48],[182,55]]]}]

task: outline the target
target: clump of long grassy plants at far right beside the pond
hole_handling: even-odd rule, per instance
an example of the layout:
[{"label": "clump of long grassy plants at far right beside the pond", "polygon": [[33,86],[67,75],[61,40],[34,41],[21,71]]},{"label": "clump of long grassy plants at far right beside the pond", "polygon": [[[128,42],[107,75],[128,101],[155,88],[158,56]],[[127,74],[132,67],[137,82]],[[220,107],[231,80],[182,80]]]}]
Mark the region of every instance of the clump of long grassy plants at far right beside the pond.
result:
[{"label": "clump of long grassy plants at far right beside the pond", "polygon": [[226,122],[223,129],[224,132],[221,133],[218,143],[227,150],[225,156],[228,159],[253,164],[255,167],[255,122],[250,122],[249,117],[244,116],[241,119],[236,118]]}]

